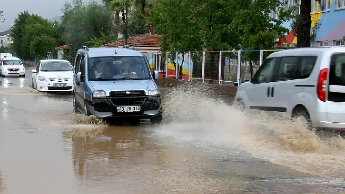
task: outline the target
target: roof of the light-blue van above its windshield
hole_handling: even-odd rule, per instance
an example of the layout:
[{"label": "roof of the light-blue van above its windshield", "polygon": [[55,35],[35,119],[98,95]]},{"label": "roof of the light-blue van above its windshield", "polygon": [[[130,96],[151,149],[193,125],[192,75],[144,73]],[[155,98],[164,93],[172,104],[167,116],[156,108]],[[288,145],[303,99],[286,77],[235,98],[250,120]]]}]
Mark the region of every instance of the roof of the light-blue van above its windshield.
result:
[{"label": "roof of the light-blue van above its windshield", "polygon": [[138,50],[116,47],[89,48],[86,52],[89,54],[89,58],[109,56],[143,57]]}]

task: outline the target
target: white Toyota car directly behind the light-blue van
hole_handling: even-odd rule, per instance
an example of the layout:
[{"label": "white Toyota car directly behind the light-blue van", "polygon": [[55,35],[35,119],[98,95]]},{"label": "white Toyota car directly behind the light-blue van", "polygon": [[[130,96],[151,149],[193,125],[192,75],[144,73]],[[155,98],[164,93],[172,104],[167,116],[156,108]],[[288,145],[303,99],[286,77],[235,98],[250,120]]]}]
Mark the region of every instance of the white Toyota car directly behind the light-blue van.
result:
[{"label": "white Toyota car directly behind the light-blue van", "polygon": [[67,60],[40,60],[31,77],[32,88],[38,91],[73,91],[73,67]]}]

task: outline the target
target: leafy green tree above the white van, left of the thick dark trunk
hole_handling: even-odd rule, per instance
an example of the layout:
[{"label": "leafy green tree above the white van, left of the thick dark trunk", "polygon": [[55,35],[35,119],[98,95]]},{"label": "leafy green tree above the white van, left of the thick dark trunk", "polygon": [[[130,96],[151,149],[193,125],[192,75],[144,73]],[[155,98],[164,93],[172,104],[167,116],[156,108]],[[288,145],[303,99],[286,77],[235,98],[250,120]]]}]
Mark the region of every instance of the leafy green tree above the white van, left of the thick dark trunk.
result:
[{"label": "leafy green tree above the white van, left of the thick dark trunk", "polygon": [[[232,4],[238,11],[234,12],[232,25],[239,33],[241,49],[260,50],[273,49],[274,39],[285,38],[287,28],[282,23],[294,17],[295,7],[285,9],[286,1],[280,0],[243,0]],[[278,10],[278,17],[271,18],[271,10]],[[249,62],[249,72],[253,75],[253,61],[258,60],[253,52],[245,52],[242,59]]]}]

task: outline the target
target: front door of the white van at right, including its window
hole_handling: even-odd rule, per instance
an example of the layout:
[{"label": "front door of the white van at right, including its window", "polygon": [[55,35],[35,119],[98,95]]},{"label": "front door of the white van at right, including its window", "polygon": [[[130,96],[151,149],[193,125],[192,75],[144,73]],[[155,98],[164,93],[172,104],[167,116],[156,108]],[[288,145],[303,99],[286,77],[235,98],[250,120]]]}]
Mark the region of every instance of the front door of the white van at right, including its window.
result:
[{"label": "front door of the white van at right, including its window", "polygon": [[246,88],[250,109],[272,111],[272,85],[279,58],[268,58],[254,75],[252,84]]}]

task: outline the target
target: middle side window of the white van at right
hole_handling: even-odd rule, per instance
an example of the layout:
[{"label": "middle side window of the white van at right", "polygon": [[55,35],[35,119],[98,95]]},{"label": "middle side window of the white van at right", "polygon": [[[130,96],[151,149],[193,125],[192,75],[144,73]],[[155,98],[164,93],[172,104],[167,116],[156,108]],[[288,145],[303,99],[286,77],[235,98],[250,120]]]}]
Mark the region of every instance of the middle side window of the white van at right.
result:
[{"label": "middle side window of the white van at right", "polygon": [[279,64],[276,81],[296,79],[297,57],[282,57]]}]

